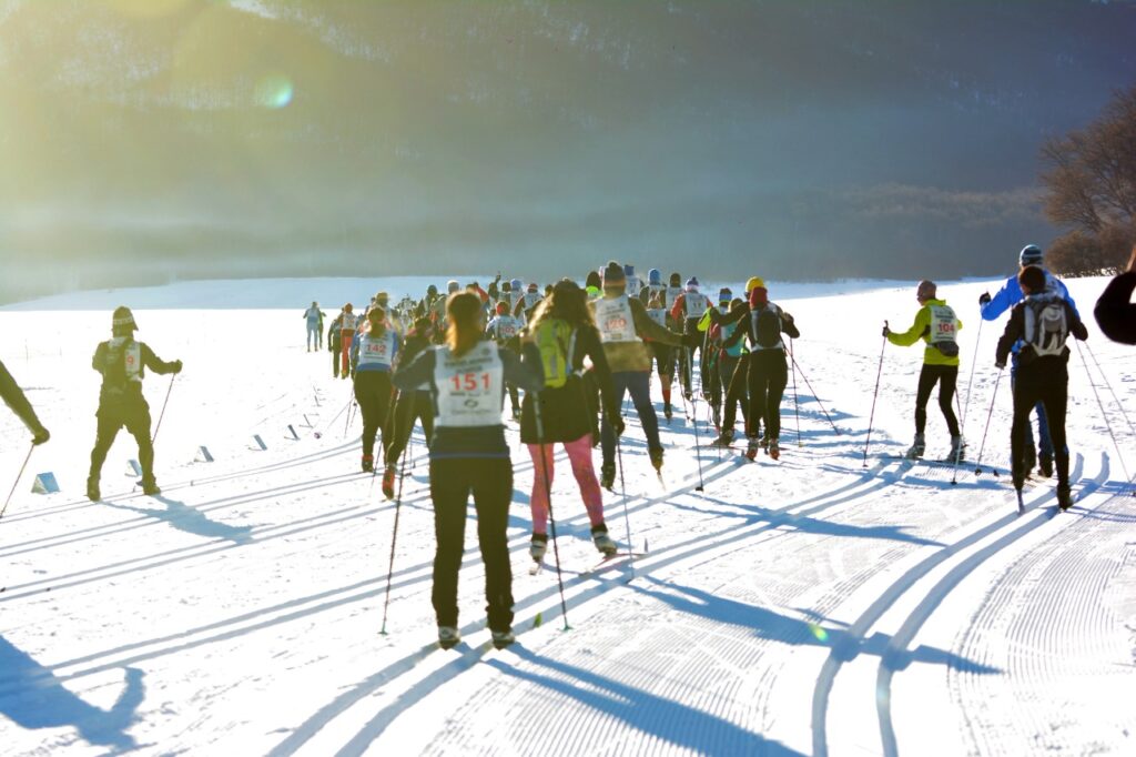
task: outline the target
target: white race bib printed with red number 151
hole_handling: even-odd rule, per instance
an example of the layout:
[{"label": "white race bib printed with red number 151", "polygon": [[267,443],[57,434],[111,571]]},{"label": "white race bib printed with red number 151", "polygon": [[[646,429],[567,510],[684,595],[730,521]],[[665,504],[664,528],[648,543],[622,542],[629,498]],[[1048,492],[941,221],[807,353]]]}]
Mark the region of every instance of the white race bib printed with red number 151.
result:
[{"label": "white race bib printed with red number 151", "polygon": [[504,366],[496,344],[482,342],[460,358],[435,348],[434,385],[438,426],[501,425]]}]

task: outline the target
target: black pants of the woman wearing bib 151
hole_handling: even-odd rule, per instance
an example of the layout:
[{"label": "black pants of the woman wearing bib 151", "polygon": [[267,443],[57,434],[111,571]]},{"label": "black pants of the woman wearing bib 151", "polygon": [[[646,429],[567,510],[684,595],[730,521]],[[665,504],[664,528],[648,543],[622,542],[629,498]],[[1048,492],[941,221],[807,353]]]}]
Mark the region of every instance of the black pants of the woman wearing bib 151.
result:
[{"label": "black pants of the woman wearing bib 151", "polygon": [[490,630],[512,627],[512,565],[509,563],[509,502],[512,464],[509,459],[440,459],[429,464],[434,500],[434,591],[438,625],[458,625],[458,569],[466,540],[466,507],[474,494],[477,543],[485,564],[485,612]]}]

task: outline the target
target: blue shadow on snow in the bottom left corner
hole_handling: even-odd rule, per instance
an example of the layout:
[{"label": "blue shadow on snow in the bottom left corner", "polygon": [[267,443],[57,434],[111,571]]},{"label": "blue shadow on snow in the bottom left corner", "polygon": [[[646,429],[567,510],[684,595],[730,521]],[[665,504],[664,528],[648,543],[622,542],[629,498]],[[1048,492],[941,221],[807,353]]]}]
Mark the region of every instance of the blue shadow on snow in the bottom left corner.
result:
[{"label": "blue shadow on snow in the bottom left corner", "polygon": [[126,729],[145,696],[142,671],[126,668],[126,688],[110,710],[83,701],[25,651],[0,635],[0,681],[12,694],[0,694],[0,714],[23,729],[74,727],[91,744],[116,751],[135,749]]}]

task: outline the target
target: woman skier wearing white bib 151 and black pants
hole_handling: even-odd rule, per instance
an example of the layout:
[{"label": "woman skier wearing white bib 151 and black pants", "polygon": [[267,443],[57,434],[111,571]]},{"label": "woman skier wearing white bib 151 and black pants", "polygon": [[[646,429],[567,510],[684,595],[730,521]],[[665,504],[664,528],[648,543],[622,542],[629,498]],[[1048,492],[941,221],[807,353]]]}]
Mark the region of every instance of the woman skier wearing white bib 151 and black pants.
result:
[{"label": "woman skier wearing white bib 151 and black pants", "polygon": [[434,501],[434,612],[443,649],[454,647],[458,631],[458,569],[466,532],[466,507],[473,492],[477,510],[477,541],[485,563],[485,599],[493,646],[515,641],[512,634],[512,568],[509,563],[509,502],[512,465],[501,424],[506,380],[526,391],[544,384],[535,347],[525,363],[492,342],[481,301],[471,292],[446,300],[445,344],[428,349],[394,374],[394,385],[412,391],[429,382],[435,407],[431,443],[429,488]]}]

